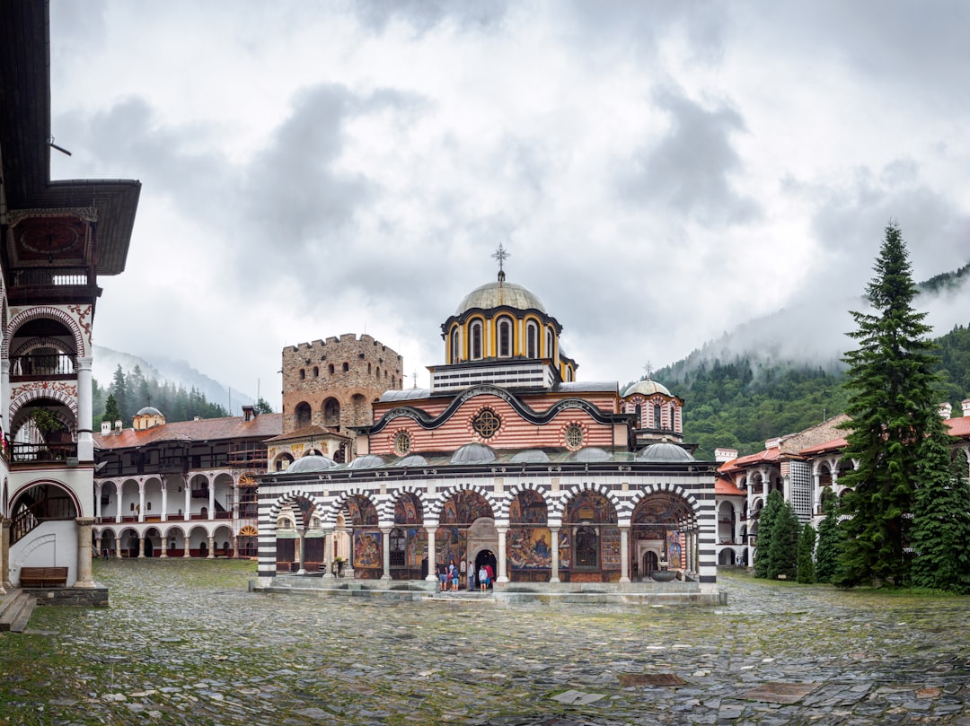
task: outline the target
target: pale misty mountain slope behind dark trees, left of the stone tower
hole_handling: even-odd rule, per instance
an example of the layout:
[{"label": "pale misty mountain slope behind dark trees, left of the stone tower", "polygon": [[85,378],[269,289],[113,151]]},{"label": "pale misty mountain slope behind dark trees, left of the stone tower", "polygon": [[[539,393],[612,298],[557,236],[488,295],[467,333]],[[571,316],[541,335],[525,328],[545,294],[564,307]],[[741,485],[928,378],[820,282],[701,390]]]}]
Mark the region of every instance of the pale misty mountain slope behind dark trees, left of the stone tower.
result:
[{"label": "pale misty mountain slope behind dark trees, left of the stone tower", "polygon": [[[94,362],[92,375],[102,388],[111,385],[115,368],[120,365],[127,373],[136,365],[142,369],[146,379],[154,379],[159,383],[172,383],[186,391],[195,389],[206,396],[211,403],[218,403],[226,407],[233,416],[242,413],[242,406],[252,405],[256,399],[240,391],[231,390],[214,378],[201,373],[185,361],[170,358],[159,358],[153,361],[130,353],[122,353],[100,345],[94,346]],[[147,401],[144,402],[147,405]],[[164,411],[162,413],[165,413]]]}]

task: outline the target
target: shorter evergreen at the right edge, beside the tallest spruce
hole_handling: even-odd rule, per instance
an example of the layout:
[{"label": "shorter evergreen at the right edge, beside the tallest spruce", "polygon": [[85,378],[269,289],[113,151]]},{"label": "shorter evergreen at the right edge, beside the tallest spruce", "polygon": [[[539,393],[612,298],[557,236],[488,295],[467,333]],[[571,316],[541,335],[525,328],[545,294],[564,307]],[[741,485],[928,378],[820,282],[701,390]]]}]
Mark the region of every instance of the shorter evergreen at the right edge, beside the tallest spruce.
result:
[{"label": "shorter evergreen at the right edge, beside the tallest spruce", "polygon": [[913,508],[913,584],[970,592],[970,486],[962,452],[950,456],[943,422],[931,426],[922,447]]}]

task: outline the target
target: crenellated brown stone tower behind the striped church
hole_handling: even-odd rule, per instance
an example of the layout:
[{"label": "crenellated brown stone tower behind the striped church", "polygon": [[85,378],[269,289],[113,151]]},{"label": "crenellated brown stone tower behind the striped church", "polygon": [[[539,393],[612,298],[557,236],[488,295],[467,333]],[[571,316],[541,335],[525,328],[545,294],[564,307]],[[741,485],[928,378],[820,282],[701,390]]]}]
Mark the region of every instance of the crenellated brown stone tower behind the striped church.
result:
[{"label": "crenellated brown stone tower behind the striped church", "polygon": [[283,348],[283,434],[323,426],[353,436],[372,424],[371,404],[403,387],[397,352],[364,333]]}]

